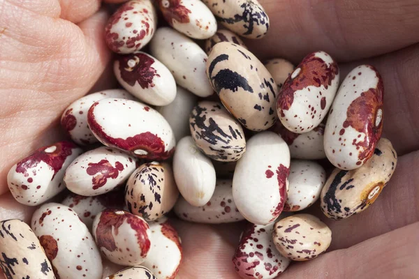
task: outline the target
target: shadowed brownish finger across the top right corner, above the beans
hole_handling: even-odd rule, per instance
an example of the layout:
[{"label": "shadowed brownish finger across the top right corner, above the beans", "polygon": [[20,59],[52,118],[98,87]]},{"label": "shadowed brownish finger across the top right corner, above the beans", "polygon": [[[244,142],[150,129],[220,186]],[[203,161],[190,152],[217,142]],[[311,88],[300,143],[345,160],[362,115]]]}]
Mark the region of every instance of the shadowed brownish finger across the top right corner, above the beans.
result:
[{"label": "shadowed brownish finger across the top right corner, above the beans", "polygon": [[419,2],[400,0],[260,0],[270,16],[263,40],[247,40],[262,59],[281,56],[294,63],[324,50],[353,61],[417,43]]}]

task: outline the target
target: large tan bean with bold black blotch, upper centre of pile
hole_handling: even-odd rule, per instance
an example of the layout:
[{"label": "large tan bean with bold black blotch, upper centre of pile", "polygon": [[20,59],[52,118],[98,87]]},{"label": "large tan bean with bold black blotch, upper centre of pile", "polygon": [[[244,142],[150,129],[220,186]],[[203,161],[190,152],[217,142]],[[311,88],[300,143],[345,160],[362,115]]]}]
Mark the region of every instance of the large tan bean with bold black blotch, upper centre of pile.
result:
[{"label": "large tan bean with bold black blotch, upper centre of pile", "polygon": [[249,130],[267,130],[277,121],[277,84],[263,64],[233,43],[214,45],[207,75],[221,103]]}]

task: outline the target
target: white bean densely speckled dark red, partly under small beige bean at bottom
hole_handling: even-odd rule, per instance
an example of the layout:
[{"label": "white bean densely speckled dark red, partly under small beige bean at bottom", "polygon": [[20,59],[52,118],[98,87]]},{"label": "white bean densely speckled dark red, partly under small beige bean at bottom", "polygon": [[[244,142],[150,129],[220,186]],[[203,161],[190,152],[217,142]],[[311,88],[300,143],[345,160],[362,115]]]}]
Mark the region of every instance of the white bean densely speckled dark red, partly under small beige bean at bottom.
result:
[{"label": "white bean densely speckled dark red, partly under small beige bean at bottom", "polygon": [[[289,216],[282,213],[279,218]],[[291,260],[281,255],[272,241],[274,223],[254,225],[249,223],[240,236],[233,256],[235,271],[242,278],[272,279],[283,273]]]}]

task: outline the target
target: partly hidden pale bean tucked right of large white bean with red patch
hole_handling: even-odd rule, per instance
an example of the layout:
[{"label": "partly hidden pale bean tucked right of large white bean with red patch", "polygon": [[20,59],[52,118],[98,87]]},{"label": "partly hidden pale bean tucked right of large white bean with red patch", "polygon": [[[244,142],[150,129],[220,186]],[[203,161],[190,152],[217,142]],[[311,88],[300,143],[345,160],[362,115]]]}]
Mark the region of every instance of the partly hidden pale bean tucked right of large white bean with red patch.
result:
[{"label": "partly hidden pale bean tucked right of large white bean with red patch", "polygon": [[325,169],[308,160],[291,160],[284,211],[300,211],[314,204],[326,181]]}]

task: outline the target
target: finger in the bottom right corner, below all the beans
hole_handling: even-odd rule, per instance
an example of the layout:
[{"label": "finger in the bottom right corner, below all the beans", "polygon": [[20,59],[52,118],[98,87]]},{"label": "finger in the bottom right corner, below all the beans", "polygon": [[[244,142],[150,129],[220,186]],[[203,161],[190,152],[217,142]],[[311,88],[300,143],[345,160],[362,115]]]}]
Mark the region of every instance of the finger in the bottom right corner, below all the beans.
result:
[{"label": "finger in the bottom right corner, below all the beans", "polygon": [[293,263],[279,278],[418,278],[419,223]]}]

